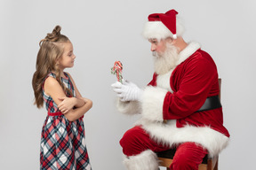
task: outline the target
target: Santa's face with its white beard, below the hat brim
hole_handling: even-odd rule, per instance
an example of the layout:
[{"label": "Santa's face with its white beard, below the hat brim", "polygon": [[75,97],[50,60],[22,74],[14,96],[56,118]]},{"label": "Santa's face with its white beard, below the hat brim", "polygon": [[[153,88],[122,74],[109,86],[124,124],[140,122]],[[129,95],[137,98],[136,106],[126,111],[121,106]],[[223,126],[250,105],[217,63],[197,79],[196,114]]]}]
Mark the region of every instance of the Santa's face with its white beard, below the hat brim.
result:
[{"label": "Santa's face with its white beard, below the hat brim", "polygon": [[153,52],[155,72],[164,74],[171,71],[178,60],[178,49],[172,45],[172,42],[161,40],[149,40],[151,42],[151,50]]}]

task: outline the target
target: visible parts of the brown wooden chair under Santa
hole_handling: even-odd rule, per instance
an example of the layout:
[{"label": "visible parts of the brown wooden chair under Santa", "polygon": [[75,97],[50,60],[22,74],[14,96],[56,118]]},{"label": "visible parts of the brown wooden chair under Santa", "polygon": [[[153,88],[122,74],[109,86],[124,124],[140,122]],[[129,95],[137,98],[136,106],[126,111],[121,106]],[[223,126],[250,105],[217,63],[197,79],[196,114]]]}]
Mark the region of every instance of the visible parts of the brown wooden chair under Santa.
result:
[{"label": "visible parts of the brown wooden chair under Santa", "polygon": [[[219,88],[221,87],[221,79],[219,79]],[[219,93],[220,97],[220,93]],[[159,166],[166,167],[166,170],[170,170],[170,166],[172,164],[172,159],[175,154],[175,149],[157,152],[156,155],[159,159]],[[198,170],[218,170],[218,161],[219,155],[214,158],[208,158],[206,155],[203,159],[203,162],[198,166]]]}]

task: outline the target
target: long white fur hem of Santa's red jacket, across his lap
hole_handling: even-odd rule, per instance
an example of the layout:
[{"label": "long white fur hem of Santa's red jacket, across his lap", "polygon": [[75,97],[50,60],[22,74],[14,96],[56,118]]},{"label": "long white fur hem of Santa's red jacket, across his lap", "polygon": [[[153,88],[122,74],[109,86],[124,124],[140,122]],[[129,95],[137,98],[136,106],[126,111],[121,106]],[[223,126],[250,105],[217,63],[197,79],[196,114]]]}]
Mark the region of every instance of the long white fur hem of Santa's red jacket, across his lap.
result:
[{"label": "long white fur hem of Santa's red jacket, across his lap", "polygon": [[137,124],[142,125],[148,134],[158,143],[168,144],[170,147],[179,143],[199,143],[213,157],[220,153],[228,145],[229,138],[210,127],[186,126],[176,127],[176,120],[169,120],[166,124],[139,120]]}]

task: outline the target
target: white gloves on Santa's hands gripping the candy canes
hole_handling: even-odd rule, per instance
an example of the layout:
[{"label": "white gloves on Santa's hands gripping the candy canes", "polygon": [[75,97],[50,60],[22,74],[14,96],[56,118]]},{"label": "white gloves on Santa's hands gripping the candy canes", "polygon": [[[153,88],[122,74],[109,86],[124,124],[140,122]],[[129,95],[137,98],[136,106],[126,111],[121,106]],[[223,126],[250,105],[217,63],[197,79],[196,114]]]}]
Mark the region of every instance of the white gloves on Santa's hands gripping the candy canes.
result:
[{"label": "white gloves on Santa's hands gripping the candy canes", "polygon": [[123,81],[122,84],[119,81],[116,81],[112,84],[113,90],[116,92],[116,96],[120,97],[122,102],[126,101],[141,101],[141,96],[143,90],[138,88],[138,86],[131,81]]}]

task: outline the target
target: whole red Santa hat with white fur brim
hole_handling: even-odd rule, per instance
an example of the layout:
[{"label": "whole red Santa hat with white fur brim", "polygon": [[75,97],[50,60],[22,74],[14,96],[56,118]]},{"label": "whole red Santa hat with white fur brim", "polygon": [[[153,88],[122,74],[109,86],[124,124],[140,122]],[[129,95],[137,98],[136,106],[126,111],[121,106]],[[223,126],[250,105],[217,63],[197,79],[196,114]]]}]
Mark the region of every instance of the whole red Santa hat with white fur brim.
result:
[{"label": "whole red Santa hat with white fur brim", "polygon": [[170,10],[165,13],[153,13],[148,15],[148,22],[145,24],[143,36],[148,39],[158,40],[183,35],[184,27],[180,20],[176,19],[178,12]]}]

